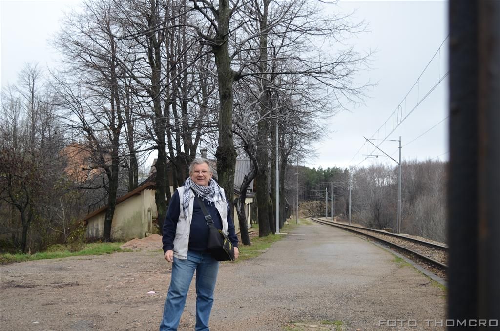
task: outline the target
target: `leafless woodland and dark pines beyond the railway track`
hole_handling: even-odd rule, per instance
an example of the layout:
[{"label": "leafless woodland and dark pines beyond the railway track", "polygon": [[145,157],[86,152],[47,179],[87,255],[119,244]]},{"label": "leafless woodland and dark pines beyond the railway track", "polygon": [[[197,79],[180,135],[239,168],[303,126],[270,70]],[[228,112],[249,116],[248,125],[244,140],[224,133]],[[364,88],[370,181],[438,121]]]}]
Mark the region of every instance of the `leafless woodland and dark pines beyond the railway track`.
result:
[{"label": "leafless woodland and dark pines beyond the railway track", "polygon": [[[298,196],[300,215],[324,215],[326,204],[331,216],[334,196],[334,215],[347,220],[349,169],[298,166],[292,171],[294,173],[287,176],[287,201],[291,206]],[[402,162],[402,233],[446,242],[446,177],[445,162]],[[391,228],[395,232],[397,195],[397,167],[372,164],[353,170],[351,222],[376,229]]]}]

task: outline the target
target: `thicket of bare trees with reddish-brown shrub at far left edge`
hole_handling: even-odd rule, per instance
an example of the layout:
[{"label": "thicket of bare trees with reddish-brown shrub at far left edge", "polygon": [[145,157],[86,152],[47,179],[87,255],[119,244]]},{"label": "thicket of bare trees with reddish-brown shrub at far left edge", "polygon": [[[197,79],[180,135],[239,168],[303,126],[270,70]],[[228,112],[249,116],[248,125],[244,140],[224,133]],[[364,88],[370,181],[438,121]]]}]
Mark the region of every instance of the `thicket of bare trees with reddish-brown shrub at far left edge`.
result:
[{"label": "thicket of bare trees with reddish-brown shrub at far left edge", "polygon": [[[53,98],[37,64],[26,64],[17,84],[1,92],[0,235],[24,252],[50,242],[51,229],[65,239],[78,212],[61,216],[62,205],[71,205],[72,198],[60,155],[65,132]],[[55,219],[57,213],[63,219]]]}]

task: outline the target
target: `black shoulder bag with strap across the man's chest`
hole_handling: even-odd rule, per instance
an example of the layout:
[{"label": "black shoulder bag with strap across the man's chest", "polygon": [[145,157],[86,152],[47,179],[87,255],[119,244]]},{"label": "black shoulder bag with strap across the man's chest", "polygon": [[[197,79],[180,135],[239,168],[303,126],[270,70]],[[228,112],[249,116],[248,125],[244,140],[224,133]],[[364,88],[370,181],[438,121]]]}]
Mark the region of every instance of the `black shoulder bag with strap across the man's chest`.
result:
[{"label": "black shoulder bag with strap across the man's chest", "polygon": [[217,229],[215,225],[213,225],[212,216],[210,216],[208,210],[206,210],[205,204],[196,195],[196,193],[194,193],[194,198],[198,201],[198,204],[203,211],[203,215],[205,215],[206,225],[208,226],[207,249],[210,251],[210,254],[217,261],[233,261],[234,246],[232,242],[229,240],[227,235],[224,234],[224,232]]}]

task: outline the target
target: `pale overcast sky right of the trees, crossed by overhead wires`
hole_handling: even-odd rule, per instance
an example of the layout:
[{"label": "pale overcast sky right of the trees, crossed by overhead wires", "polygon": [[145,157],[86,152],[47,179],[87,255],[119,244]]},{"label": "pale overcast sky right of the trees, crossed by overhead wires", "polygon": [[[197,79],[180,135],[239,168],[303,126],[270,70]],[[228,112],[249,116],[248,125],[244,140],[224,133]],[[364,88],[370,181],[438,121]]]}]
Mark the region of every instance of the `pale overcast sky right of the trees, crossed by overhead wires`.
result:
[{"label": "pale overcast sky right of the trees, crossed by overhead wires", "polygon": [[[316,145],[318,157],[315,160],[304,160],[304,163],[323,168],[366,166],[372,162],[396,165],[388,157],[366,158],[363,154],[371,154],[375,147],[366,142],[363,136],[370,138],[391,113],[398,109],[398,105],[446,39],[447,3],[343,0],[338,6],[345,12],[356,10],[352,18],[364,19],[369,25],[369,32],[360,34],[354,43],[358,50],[375,49],[376,53],[372,57],[372,69],[364,72],[358,81],[369,79],[377,85],[368,90],[364,104],[332,118],[328,126],[334,133]],[[442,121],[447,116],[447,78],[442,79],[423,99],[439,77],[445,76],[446,71],[447,42],[408,94],[406,102],[402,102],[399,110],[403,113],[402,117],[407,117],[395,128],[393,122],[397,123],[396,111],[394,118],[390,117],[378,134],[373,136],[383,139],[395,128],[388,139],[397,140],[401,136],[403,160],[448,158],[447,121]],[[408,114],[418,101],[418,106]],[[417,138],[427,130],[427,133]],[[415,140],[411,141],[413,139]],[[381,141],[373,142],[378,144]],[[380,149],[398,160],[398,142],[385,141]],[[383,155],[380,151],[373,154]]]}]

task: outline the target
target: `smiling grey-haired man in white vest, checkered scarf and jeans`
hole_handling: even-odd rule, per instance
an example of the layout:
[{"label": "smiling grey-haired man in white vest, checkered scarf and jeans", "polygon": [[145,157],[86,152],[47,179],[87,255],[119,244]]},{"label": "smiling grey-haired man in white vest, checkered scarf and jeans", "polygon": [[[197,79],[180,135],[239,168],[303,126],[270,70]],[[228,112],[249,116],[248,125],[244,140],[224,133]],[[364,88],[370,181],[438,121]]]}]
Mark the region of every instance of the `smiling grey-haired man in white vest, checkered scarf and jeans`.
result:
[{"label": "smiling grey-haired man in white vest, checkered scarf and jeans", "polygon": [[163,222],[163,252],[165,260],[173,264],[160,331],[177,329],[195,270],[195,330],[208,330],[219,262],[206,250],[208,226],[198,201],[205,205],[215,227],[222,230],[234,245],[234,259],[238,257],[238,238],[231,210],[224,190],[212,175],[209,161],[195,158],[189,165],[189,177],[184,186],[177,188],[170,199]]}]

